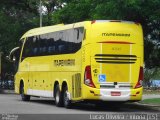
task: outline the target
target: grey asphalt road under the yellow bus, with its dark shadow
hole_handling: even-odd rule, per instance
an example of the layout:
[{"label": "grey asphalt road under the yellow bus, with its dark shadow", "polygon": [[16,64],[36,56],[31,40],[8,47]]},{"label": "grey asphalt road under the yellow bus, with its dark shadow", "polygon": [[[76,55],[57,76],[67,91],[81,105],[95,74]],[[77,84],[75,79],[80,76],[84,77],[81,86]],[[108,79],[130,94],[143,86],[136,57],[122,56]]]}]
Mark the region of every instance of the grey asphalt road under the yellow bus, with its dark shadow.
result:
[{"label": "grey asphalt road under the yellow bus, with its dark shadow", "polygon": [[[144,95],[145,98],[154,97]],[[155,97],[160,97],[159,95]],[[92,113],[119,113],[119,112],[160,112],[160,107],[150,107],[137,103],[126,103],[121,106],[102,106],[95,104],[77,103],[71,109],[56,107],[54,100],[32,97],[31,101],[21,101],[17,94],[0,94],[0,113],[13,114],[92,114]]]}]

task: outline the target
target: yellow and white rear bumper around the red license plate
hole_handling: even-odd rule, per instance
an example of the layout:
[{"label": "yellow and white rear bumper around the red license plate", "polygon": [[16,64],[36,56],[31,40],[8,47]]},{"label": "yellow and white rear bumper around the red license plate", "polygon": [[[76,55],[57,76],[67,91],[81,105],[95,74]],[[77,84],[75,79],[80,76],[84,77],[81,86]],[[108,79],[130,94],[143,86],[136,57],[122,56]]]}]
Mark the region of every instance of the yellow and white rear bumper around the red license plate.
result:
[{"label": "yellow and white rear bumper around the red license plate", "polygon": [[[139,101],[142,99],[143,87],[137,89],[97,89],[85,86],[84,100],[102,101]],[[111,92],[120,92],[120,96],[112,96]]]}]

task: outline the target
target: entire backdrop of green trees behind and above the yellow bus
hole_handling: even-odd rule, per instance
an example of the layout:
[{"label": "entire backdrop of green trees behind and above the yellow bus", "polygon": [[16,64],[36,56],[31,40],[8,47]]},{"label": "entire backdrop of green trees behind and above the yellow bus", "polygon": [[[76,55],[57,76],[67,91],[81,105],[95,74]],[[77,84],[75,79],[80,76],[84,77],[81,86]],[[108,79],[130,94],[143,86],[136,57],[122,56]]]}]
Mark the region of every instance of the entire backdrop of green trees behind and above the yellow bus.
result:
[{"label": "entire backdrop of green trees behind and above the yellow bus", "polygon": [[[24,32],[39,27],[39,2],[1,1],[0,51],[4,57],[18,45]],[[45,26],[95,19],[140,22],[145,38],[145,67],[160,67],[160,0],[42,0],[42,5],[46,9]]]}]

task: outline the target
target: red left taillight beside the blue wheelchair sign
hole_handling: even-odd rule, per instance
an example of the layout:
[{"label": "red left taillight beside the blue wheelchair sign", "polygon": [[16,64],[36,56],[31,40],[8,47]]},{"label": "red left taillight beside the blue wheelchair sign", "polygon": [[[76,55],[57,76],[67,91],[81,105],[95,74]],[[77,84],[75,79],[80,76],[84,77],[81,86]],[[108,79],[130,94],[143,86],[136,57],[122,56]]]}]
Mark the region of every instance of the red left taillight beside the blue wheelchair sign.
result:
[{"label": "red left taillight beside the blue wheelchair sign", "polygon": [[86,68],[85,68],[84,84],[86,84],[87,86],[95,88],[95,85],[92,81],[91,66],[86,66]]}]

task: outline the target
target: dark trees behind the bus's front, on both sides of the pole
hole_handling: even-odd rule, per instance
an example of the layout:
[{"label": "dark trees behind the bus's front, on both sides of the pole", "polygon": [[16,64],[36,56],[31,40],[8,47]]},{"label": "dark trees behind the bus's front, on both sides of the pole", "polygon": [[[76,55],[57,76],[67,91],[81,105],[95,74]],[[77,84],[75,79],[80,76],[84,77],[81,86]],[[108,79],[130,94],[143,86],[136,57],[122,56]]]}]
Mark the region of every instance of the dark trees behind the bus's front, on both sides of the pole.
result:
[{"label": "dark trees behind the bus's front, on both sides of the pole", "polygon": [[[39,0],[3,0],[0,3],[0,51],[2,71],[12,72],[12,64],[5,57],[10,50],[19,45],[21,36],[29,29],[39,27]],[[60,9],[59,0],[42,0],[43,25],[52,25],[52,13]]]}]

